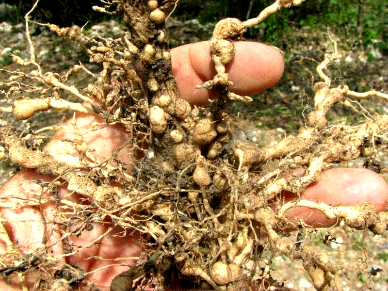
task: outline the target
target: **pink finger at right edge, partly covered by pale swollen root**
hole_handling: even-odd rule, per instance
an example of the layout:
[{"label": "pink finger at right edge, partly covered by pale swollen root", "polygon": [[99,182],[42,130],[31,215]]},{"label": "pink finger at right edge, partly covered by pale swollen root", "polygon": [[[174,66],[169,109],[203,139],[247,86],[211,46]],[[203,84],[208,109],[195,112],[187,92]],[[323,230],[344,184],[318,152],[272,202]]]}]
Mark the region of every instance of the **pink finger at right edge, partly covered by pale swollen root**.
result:
[{"label": "pink finger at right edge, partly covered by pale swollen root", "polygon": [[[286,194],[286,201],[295,198]],[[349,206],[359,202],[370,202],[376,212],[388,209],[388,185],[383,177],[367,169],[333,168],[325,170],[321,179],[309,185],[300,199],[322,201],[333,206]],[[322,212],[304,207],[287,212],[291,220],[304,220],[315,227],[332,226],[336,220],[327,219]]]}]

